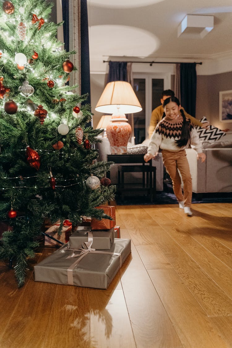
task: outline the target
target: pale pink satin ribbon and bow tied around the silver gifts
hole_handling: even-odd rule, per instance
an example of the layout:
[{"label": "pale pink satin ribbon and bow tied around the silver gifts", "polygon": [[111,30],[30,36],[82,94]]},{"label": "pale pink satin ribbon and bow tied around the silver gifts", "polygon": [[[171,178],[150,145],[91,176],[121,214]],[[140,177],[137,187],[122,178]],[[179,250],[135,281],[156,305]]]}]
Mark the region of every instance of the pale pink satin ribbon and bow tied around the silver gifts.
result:
[{"label": "pale pink satin ribbon and bow tied around the silver gifts", "polygon": [[[69,285],[74,285],[73,283],[73,270],[78,265],[78,263],[88,254],[108,254],[108,255],[117,255],[120,259],[120,267],[122,266],[122,256],[120,253],[111,253],[109,251],[101,251],[92,248],[93,244],[93,233],[88,231],[88,242],[82,243],[82,248],[73,249],[73,248],[64,248],[63,250],[72,250],[72,254],[67,256],[66,259],[74,259],[77,260],[71,264],[71,266],[67,269],[67,280]],[[79,252],[79,254],[75,254],[75,252]]]}]

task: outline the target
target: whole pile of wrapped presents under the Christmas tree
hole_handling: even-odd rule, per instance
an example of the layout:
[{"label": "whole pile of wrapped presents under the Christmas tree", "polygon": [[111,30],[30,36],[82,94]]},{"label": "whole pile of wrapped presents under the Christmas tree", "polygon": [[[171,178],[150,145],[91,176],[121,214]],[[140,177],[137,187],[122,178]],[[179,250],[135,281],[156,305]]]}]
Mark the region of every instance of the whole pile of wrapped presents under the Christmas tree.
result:
[{"label": "whole pile of wrapped presents under the Christmas tree", "polygon": [[63,245],[34,266],[35,281],[99,289],[109,286],[131,251],[130,239],[120,238],[115,207],[99,208],[112,220],[86,218],[74,231],[65,220],[60,236],[59,222],[45,231],[45,245]]}]

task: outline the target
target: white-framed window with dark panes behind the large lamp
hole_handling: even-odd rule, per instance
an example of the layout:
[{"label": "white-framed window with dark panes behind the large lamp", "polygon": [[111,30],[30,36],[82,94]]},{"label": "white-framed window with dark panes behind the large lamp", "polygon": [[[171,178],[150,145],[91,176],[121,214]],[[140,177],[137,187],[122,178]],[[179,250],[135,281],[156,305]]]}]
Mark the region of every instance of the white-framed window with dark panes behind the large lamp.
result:
[{"label": "white-framed window with dark panes behind the large lamp", "polygon": [[143,108],[134,113],[135,144],[141,144],[148,137],[152,110],[160,105],[160,95],[171,86],[169,73],[134,73],[134,91]]}]

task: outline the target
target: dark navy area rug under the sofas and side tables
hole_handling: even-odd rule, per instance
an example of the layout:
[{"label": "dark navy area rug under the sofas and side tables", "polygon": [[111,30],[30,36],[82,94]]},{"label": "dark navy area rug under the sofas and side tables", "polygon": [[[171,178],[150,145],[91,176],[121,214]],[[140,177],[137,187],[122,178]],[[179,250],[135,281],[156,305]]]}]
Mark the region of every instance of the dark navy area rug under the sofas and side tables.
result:
[{"label": "dark navy area rug under the sofas and side tables", "polygon": [[[148,204],[178,204],[173,190],[166,188],[165,191],[156,193],[156,197],[151,202],[149,196],[121,196],[116,195],[118,205],[148,205]],[[217,193],[193,193],[192,203],[232,203],[232,192]]]}]

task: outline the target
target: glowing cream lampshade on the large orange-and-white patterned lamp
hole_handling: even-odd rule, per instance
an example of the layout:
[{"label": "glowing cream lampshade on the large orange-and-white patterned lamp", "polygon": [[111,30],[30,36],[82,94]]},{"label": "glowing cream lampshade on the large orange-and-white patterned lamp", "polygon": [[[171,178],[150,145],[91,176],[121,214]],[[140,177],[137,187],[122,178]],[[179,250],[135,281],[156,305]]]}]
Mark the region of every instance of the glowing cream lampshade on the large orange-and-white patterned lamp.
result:
[{"label": "glowing cream lampshade on the large orange-and-white patterned lamp", "polygon": [[142,110],[138,98],[126,81],[109,82],[96,105],[95,110],[103,113],[135,113]]}]

